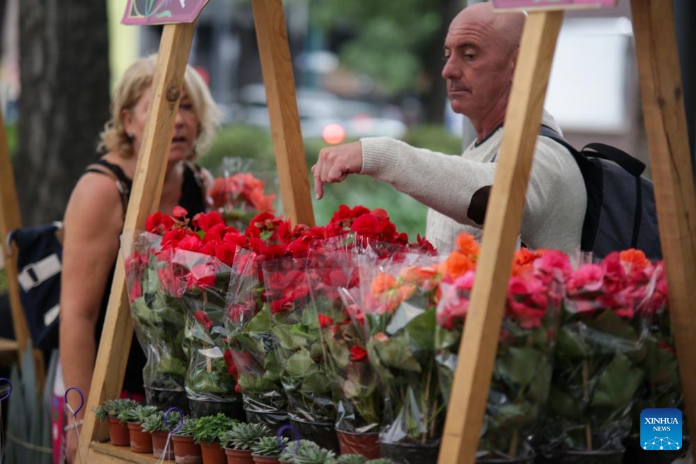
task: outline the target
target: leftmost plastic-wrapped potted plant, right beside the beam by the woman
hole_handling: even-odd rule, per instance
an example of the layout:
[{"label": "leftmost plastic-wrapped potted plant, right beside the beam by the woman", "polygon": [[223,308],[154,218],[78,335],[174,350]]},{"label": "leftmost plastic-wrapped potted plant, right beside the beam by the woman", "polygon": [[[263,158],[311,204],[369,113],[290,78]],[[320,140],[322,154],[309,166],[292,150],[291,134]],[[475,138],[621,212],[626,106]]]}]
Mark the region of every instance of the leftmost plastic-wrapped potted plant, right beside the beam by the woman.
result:
[{"label": "leftmost plastic-wrapped potted plant, right beside the beam by the woman", "polygon": [[185,311],[166,285],[170,267],[167,255],[158,253],[161,239],[146,232],[124,233],[121,239],[134,330],[147,358],[143,375],[150,404],[160,400],[155,390],[183,392],[187,369]]}]

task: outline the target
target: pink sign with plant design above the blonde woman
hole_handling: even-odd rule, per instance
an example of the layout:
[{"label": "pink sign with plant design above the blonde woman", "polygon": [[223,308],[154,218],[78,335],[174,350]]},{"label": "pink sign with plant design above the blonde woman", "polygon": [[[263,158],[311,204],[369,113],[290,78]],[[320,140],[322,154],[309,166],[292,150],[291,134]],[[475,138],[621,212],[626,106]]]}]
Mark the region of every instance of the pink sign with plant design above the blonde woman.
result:
[{"label": "pink sign with plant design above the blonde woman", "polygon": [[128,0],[123,24],[194,22],[208,0]]}]

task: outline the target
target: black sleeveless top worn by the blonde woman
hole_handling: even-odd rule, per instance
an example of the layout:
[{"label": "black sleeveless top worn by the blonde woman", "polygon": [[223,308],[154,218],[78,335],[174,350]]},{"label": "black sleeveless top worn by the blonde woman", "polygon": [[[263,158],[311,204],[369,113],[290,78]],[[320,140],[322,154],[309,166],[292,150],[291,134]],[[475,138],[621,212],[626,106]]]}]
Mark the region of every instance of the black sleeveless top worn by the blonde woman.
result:
[{"label": "black sleeveless top worn by the blonde woman", "polygon": [[[112,164],[106,160],[98,160],[92,164],[98,164],[108,169],[116,176],[116,187],[121,193],[121,202],[123,203],[123,217],[128,206],[130,198],[130,190],[133,185],[132,179],[128,178],[123,170],[116,164]],[[86,169],[86,172],[102,173],[108,176],[108,173],[98,169]],[[183,173],[183,183],[181,185],[181,198],[179,206],[188,211],[187,217],[193,219],[199,212],[206,211],[205,194],[203,193],[203,182],[200,177],[200,168],[195,164],[185,163]],[[116,270],[116,262],[111,267],[109,278],[107,279],[107,288],[102,297],[99,318],[95,327],[95,339],[97,343],[102,335],[104,327],[104,319],[107,314],[107,306],[109,304],[109,293],[111,293],[111,283],[114,280],[114,271]],[[116,354],[116,352],[114,352]],[[144,394],[143,385],[143,369],[145,367],[146,357],[140,343],[135,336],[130,343],[130,353],[128,354],[128,362],[125,367],[125,376],[123,377],[123,390],[128,394]]]}]

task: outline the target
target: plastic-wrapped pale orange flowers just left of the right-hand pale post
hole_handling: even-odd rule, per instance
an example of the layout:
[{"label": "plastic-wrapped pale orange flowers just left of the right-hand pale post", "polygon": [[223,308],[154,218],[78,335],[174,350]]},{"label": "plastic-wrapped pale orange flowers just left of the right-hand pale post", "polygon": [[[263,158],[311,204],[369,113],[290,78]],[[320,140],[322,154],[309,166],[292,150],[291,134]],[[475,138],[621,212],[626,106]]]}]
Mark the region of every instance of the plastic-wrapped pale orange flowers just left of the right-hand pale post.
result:
[{"label": "plastic-wrapped pale orange flowers just left of the right-hand pale post", "polygon": [[434,258],[412,256],[360,268],[364,356],[385,386],[380,443],[437,449],[444,424],[434,340],[438,273]]}]

